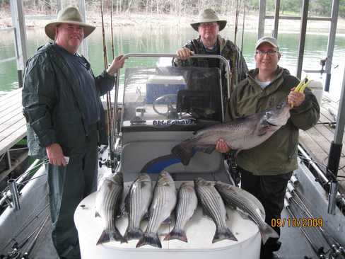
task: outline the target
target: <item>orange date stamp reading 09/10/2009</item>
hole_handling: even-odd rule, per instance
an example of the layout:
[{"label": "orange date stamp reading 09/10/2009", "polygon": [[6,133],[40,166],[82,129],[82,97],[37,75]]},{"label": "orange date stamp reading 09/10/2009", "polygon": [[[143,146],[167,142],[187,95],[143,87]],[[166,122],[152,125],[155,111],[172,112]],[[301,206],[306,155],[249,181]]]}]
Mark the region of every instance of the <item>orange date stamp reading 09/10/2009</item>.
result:
[{"label": "orange date stamp reading 09/10/2009", "polygon": [[288,217],[287,219],[271,219],[271,226],[273,227],[322,227],[323,224],[324,221],[322,218]]}]

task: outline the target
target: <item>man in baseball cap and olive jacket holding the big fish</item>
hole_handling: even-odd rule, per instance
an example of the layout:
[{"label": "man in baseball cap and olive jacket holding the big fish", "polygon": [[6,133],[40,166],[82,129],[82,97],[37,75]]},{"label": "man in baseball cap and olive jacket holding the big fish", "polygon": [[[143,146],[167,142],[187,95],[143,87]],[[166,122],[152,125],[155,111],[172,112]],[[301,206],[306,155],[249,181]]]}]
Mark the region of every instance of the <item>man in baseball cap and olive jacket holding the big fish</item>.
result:
[{"label": "man in baseball cap and olive jacket holding the big fish", "polygon": [[[255,195],[266,212],[265,221],[280,219],[288,180],[297,166],[298,130],[314,126],[320,117],[320,107],[310,89],[293,91],[299,80],[287,69],[278,66],[281,59],[275,38],[263,37],[255,45],[257,68],[248,72],[238,84],[228,103],[228,120],[271,110],[281,103],[290,105],[290,118],[267,141],[238,153],[236,163],[241,175],[241,188]],[[223,140],[216,150],[230,151]],[[279,226],[273,229],[280,235]],[[281,242],[269,238],[262,246],[261,259],[276,258]]]}]

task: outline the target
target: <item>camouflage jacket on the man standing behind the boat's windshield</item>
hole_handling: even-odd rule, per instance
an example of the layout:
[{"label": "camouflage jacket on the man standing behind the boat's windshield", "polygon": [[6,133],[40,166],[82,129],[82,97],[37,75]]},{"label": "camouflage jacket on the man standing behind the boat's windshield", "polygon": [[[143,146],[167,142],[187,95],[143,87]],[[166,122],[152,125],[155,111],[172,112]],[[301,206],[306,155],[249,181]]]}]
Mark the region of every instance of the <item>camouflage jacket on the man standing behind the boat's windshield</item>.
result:
[{"label": "camouflage jacket on the man standing behind the boat's windshield", "polygon": [[[218,35],[218,42],[220,45],[220,54],[222,57],[228,59],[230,64],[230,69],[235,68],[235,75],[236,78],[234,82],[240,82],[245,79],[247,74],[248,68],[247,64],[245,63],[245,59],[243,58],[242,54],[238,50],[233,42],[230,40],[226,40],[222,38],[221,35]],[[204,46],[200,40],[200,37],[194,40],[191,40],[189,43],[185,45],[189,50],[192,50],[194,54],[207,54],[204,50]],[[186,59],[181,60],[175,58],[173,60],[173,64],[177,67],[209,67],[209,60],[208,59]],[[221,62],[221,74],[222,78],[228,78],[226,75],[226,65]],[[226,86],[226,81],[222,81],[223,88]]]}]

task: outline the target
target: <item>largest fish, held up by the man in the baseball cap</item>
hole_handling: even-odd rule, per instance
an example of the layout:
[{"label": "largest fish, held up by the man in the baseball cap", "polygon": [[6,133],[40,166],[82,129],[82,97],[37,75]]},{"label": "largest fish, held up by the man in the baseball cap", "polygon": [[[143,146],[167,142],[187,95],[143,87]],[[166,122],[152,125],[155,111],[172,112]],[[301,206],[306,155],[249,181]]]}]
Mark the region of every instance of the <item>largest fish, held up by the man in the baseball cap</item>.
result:
[{"label": "largest fish, held up by the man in the baseball cap", "polygon": [[290,117],[289,110],[290,106],[282,103],[264,113],[201,129],[193,137],[174,146],[171,152],[187,166],[195,151],[211,154],[219,139],[224,139],[231,149],[238,152],[251,149],[269,139],[286,124]]}]

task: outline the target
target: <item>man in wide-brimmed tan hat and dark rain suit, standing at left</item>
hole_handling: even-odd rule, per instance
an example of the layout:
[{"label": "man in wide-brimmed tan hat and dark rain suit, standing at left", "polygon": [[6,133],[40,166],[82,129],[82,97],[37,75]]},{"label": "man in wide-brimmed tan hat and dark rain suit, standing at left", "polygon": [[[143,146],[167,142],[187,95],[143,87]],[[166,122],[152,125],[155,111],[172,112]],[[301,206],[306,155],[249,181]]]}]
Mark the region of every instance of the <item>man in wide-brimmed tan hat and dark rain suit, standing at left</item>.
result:
[{"label": "man in wide-brimmed tan hat and dark rain suit, standing at left", "polygon": [[96,190],[98,145],[107,144],[100,96],[114,86],[124,57],[95,77],[77,53],[95,27],[83,23],[77,8],[59,11],[45,26],[53,43],[28,60],[23,86],[23,113],[29,154],[49,159],[46,165],[52,240],[60,258],[80,258],[74,211]]}]

